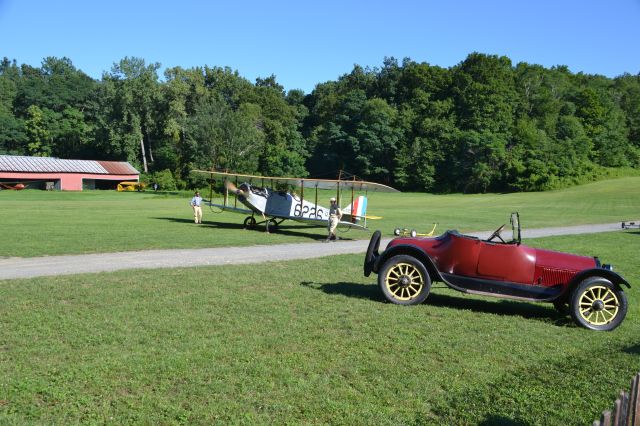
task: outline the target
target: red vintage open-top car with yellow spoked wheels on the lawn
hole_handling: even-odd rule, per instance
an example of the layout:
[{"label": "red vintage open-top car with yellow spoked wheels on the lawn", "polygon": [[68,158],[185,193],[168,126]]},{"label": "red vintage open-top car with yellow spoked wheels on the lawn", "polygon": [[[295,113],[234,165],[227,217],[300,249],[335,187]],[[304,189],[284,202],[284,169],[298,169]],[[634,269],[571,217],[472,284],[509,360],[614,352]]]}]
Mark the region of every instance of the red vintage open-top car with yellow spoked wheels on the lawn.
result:
[{"label": "red vintage open-top car with yellow spoked wheels on the lawn", "polygon": [[622,286],[630,287],[611,265],[597,257],[577,256],[521,244],[520,220],[511,215],[513,237],[505,241],[499,227],[486,240],[457,231],[435,238],[399,237],[378,253],[380,231],[371,237],[364,274],[378,274],[385,297],[399,305],[415,305],[429,295],[431,283],[442,281],[465,293],[569,306],[582,327],[613,330],[627,313]]}]

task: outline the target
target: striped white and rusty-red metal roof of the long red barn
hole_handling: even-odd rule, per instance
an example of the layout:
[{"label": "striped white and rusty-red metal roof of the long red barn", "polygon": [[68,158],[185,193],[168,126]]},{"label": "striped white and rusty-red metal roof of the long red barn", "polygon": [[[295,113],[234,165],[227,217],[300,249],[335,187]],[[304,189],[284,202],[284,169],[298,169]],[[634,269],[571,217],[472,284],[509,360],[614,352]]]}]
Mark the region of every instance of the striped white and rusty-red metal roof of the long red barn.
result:
[{"label": "striped white and rusty-red metal roof of the long red barn", "polygon": [[52,157],[0,155],[0,172],[138,174],[131,164],[120,161],[62,160]]}]

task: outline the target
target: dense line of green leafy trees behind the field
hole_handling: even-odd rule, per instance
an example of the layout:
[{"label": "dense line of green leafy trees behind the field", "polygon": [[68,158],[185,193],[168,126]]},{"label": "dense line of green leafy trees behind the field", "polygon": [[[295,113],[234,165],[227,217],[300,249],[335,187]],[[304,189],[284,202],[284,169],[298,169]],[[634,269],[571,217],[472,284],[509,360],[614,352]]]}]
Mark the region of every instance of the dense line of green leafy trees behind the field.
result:
[{"label": "dense line of green leafy trees behind the field", "polygon": [[100,80],[68,58],[0,63],[0,153],[129,161],[178,188],[190,170],[336,177],[402,190],[536,191],[635,173],[640,74],[574,74],[472,53],[385,58],[310,94],[228,67],[126,57]]}]

